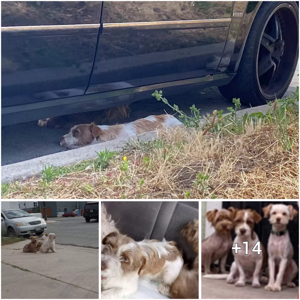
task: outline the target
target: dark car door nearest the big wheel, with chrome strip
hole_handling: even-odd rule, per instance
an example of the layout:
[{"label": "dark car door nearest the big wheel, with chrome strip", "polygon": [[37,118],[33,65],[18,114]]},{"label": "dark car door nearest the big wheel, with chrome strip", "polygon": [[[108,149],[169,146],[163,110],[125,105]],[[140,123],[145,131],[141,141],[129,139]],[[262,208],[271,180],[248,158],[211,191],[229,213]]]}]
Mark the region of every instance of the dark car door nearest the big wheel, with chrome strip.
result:
[{"label": "dark car door nearest the big wheel, with chrome strip", "polygon": [[232,1],[104,1],[87,93],[121,95],[126,88],[209,80],[223,53],[231,11]]}]

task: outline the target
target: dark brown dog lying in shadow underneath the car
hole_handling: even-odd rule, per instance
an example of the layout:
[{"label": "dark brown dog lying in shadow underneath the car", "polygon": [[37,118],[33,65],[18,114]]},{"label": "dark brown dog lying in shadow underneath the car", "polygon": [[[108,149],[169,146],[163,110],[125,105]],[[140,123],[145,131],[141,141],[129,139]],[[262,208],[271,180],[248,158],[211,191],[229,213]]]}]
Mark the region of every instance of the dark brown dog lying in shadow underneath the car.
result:
[{"label": "dark brown dog lying in shadow underneath the car", "polygon": [[96,110],[83,113],[74,113],[71,115],[52,117],[38,120],[38,125],[41,127],[50,128],[65,128],[71,127],[80,123],[95,123],[98,125],[110,124],[118,120],[127,119],[130,115],[128,105],[107,108],[104,110]]}]

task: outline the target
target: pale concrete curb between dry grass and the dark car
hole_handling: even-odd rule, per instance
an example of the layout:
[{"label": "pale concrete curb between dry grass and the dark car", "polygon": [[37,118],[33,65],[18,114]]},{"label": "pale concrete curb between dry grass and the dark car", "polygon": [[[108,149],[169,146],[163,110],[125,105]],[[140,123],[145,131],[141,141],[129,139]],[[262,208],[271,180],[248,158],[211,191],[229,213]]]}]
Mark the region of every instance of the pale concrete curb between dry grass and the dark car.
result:
[{"label": "pale concrete curb between dry grass and the dark car", "polygon": [[[245,113],[251,114],[253,112],[266,113],[269,106],[262,105],[257,107],[251,107],[244,110],[239,110],[237,116],[241,117]],[[157,138],[156,131],[150,131],[145,134],[141,134],[138,137],[132,137],[131,140],[140,141],[150,141]],[[87,147],[82,147],[79,149],[73,149],[65,152],[53,153],[38,158],[33,158],[28,161],[21,161],[19,163],[5,165],[1,167],[1,183],[14,182],[16,180],[25,180],[27,178],[35,176],[37,173],[41,172],[44,165],[46,166],[69,166],[76,164],[79,161],[95,158],[97,155],[95,151],[103,151],[107,148],[110,151],[121,151],[126,145],[128,140],[118,139],[105,143],[100,143],[97,145],[91,145]]]}]

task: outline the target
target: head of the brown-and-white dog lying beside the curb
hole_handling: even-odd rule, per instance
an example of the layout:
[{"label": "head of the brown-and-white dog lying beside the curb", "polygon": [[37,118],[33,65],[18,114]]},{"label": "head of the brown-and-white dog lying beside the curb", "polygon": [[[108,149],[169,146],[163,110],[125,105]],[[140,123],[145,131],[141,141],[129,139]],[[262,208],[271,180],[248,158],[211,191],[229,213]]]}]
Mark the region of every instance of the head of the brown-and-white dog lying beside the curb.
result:
[{"label": "head of the brown-and-white dog lying beside the curb", "polygon": [[103,130],[95,124],[75,125],[68,134],[60,137],[59,142],[63,147],[75,149],[97,143],[97,137],[103,133]]}]

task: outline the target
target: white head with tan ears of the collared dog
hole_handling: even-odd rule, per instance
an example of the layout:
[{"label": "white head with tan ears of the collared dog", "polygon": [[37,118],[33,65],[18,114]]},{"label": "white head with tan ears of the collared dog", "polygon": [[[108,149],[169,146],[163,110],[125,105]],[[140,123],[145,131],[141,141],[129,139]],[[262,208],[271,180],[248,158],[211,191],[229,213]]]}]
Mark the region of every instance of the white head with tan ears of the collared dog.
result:
[{"label": "white head with tan ears of the collared dog", "polygon": [[270,204],[262,208],[262,211],[264,217],[269,217],[271,224],[284,226],[298,214],[298,211],[292,205],[284,204]]}]

